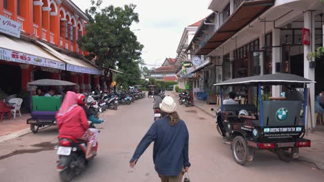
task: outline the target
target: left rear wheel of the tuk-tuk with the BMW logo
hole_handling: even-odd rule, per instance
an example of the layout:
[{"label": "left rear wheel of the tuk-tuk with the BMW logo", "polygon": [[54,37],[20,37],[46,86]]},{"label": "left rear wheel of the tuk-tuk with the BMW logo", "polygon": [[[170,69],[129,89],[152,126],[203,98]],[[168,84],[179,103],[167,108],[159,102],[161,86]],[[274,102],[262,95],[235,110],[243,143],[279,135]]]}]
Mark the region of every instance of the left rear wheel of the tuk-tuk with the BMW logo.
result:
[{"label": "left rear wheel of the tuk-tuk with the BMW logo", "polygon": [[254,150],[248,147],[242,136],[236,136],[234,138],[232,152],[234,161],[240,165],[244,165],[247,161],[253,161]]}]

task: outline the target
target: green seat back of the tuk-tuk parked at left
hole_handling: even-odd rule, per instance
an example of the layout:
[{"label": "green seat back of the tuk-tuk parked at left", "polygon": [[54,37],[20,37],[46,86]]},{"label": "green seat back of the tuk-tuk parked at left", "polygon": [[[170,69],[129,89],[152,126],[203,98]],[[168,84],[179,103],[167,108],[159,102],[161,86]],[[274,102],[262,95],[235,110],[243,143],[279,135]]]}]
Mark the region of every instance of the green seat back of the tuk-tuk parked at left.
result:
[{"label": "green seat back of the tuk-tuk parked at left", "polygon": [[33,96],[33,111],[57,111],[60,110],[61,97]]}]

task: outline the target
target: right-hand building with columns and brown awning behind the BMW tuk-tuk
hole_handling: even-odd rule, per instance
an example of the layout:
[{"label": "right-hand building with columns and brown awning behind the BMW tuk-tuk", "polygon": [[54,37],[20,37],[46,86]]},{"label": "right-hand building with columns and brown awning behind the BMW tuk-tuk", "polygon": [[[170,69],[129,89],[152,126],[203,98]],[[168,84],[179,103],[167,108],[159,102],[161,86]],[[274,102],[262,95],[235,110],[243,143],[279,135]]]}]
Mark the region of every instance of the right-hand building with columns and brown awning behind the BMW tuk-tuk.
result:
[{"label": "right-hand building with columns and brown awning behind the BMW tuk-tuk", "polygon": [[[214,83],[282,72],[316,81],[309,85],[312,101],[315,92],[323,90],[320,70],[323,61],[308,60],[307,54],[323,46],[324,3],[313,0],[213,0],[208,8],[213,10],[212,17],[205,21],[209,27],[201,26],[197,30],[188,52],[210,58],[219,77]],[[307,43],[305,37],[309,37]],[[253,102],[255,91],[246,88],[235,91],[244,92],[249,103]],[[285,91],[287,88],[279,86],[264,90],[274,97]],[[314,102],[311,106],[314,116]]]}]

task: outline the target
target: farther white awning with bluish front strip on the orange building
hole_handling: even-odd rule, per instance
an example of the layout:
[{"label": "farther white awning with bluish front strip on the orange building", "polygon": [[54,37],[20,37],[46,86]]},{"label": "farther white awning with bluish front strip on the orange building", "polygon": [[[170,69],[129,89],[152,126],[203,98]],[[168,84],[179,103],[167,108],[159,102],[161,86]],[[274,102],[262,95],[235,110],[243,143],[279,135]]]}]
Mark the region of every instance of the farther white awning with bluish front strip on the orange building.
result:
[{"label": "farther white awning with bluish front strip on the orange building", "polygon": [[87,63],[86,61],[82,61],[81,59],[57,52],[46,43],[42,43],[40,41],[37,41],[37,43],[39,43],[39,45],[42,45],[44,50],[51,53],[53,56],[66,62],[66,71],[81,72],[87,74],[102,74],[102,72],[95,66],[91,65],[91,63]]}]

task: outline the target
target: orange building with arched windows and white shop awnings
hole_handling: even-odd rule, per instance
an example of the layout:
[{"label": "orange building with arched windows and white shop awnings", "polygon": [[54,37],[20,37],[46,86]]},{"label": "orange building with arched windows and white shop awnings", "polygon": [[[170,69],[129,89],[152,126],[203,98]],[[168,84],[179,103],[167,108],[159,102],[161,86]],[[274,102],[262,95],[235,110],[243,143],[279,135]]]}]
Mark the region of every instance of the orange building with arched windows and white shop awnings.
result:
[{"label": "orange building with arched windows and white shop awnings", "polygon": [[1,90],[19,94],[37,79],[72,81],[75,92],[98,87],[102,72],[76,43],[86,24],[71,0],[0,0]]}]

